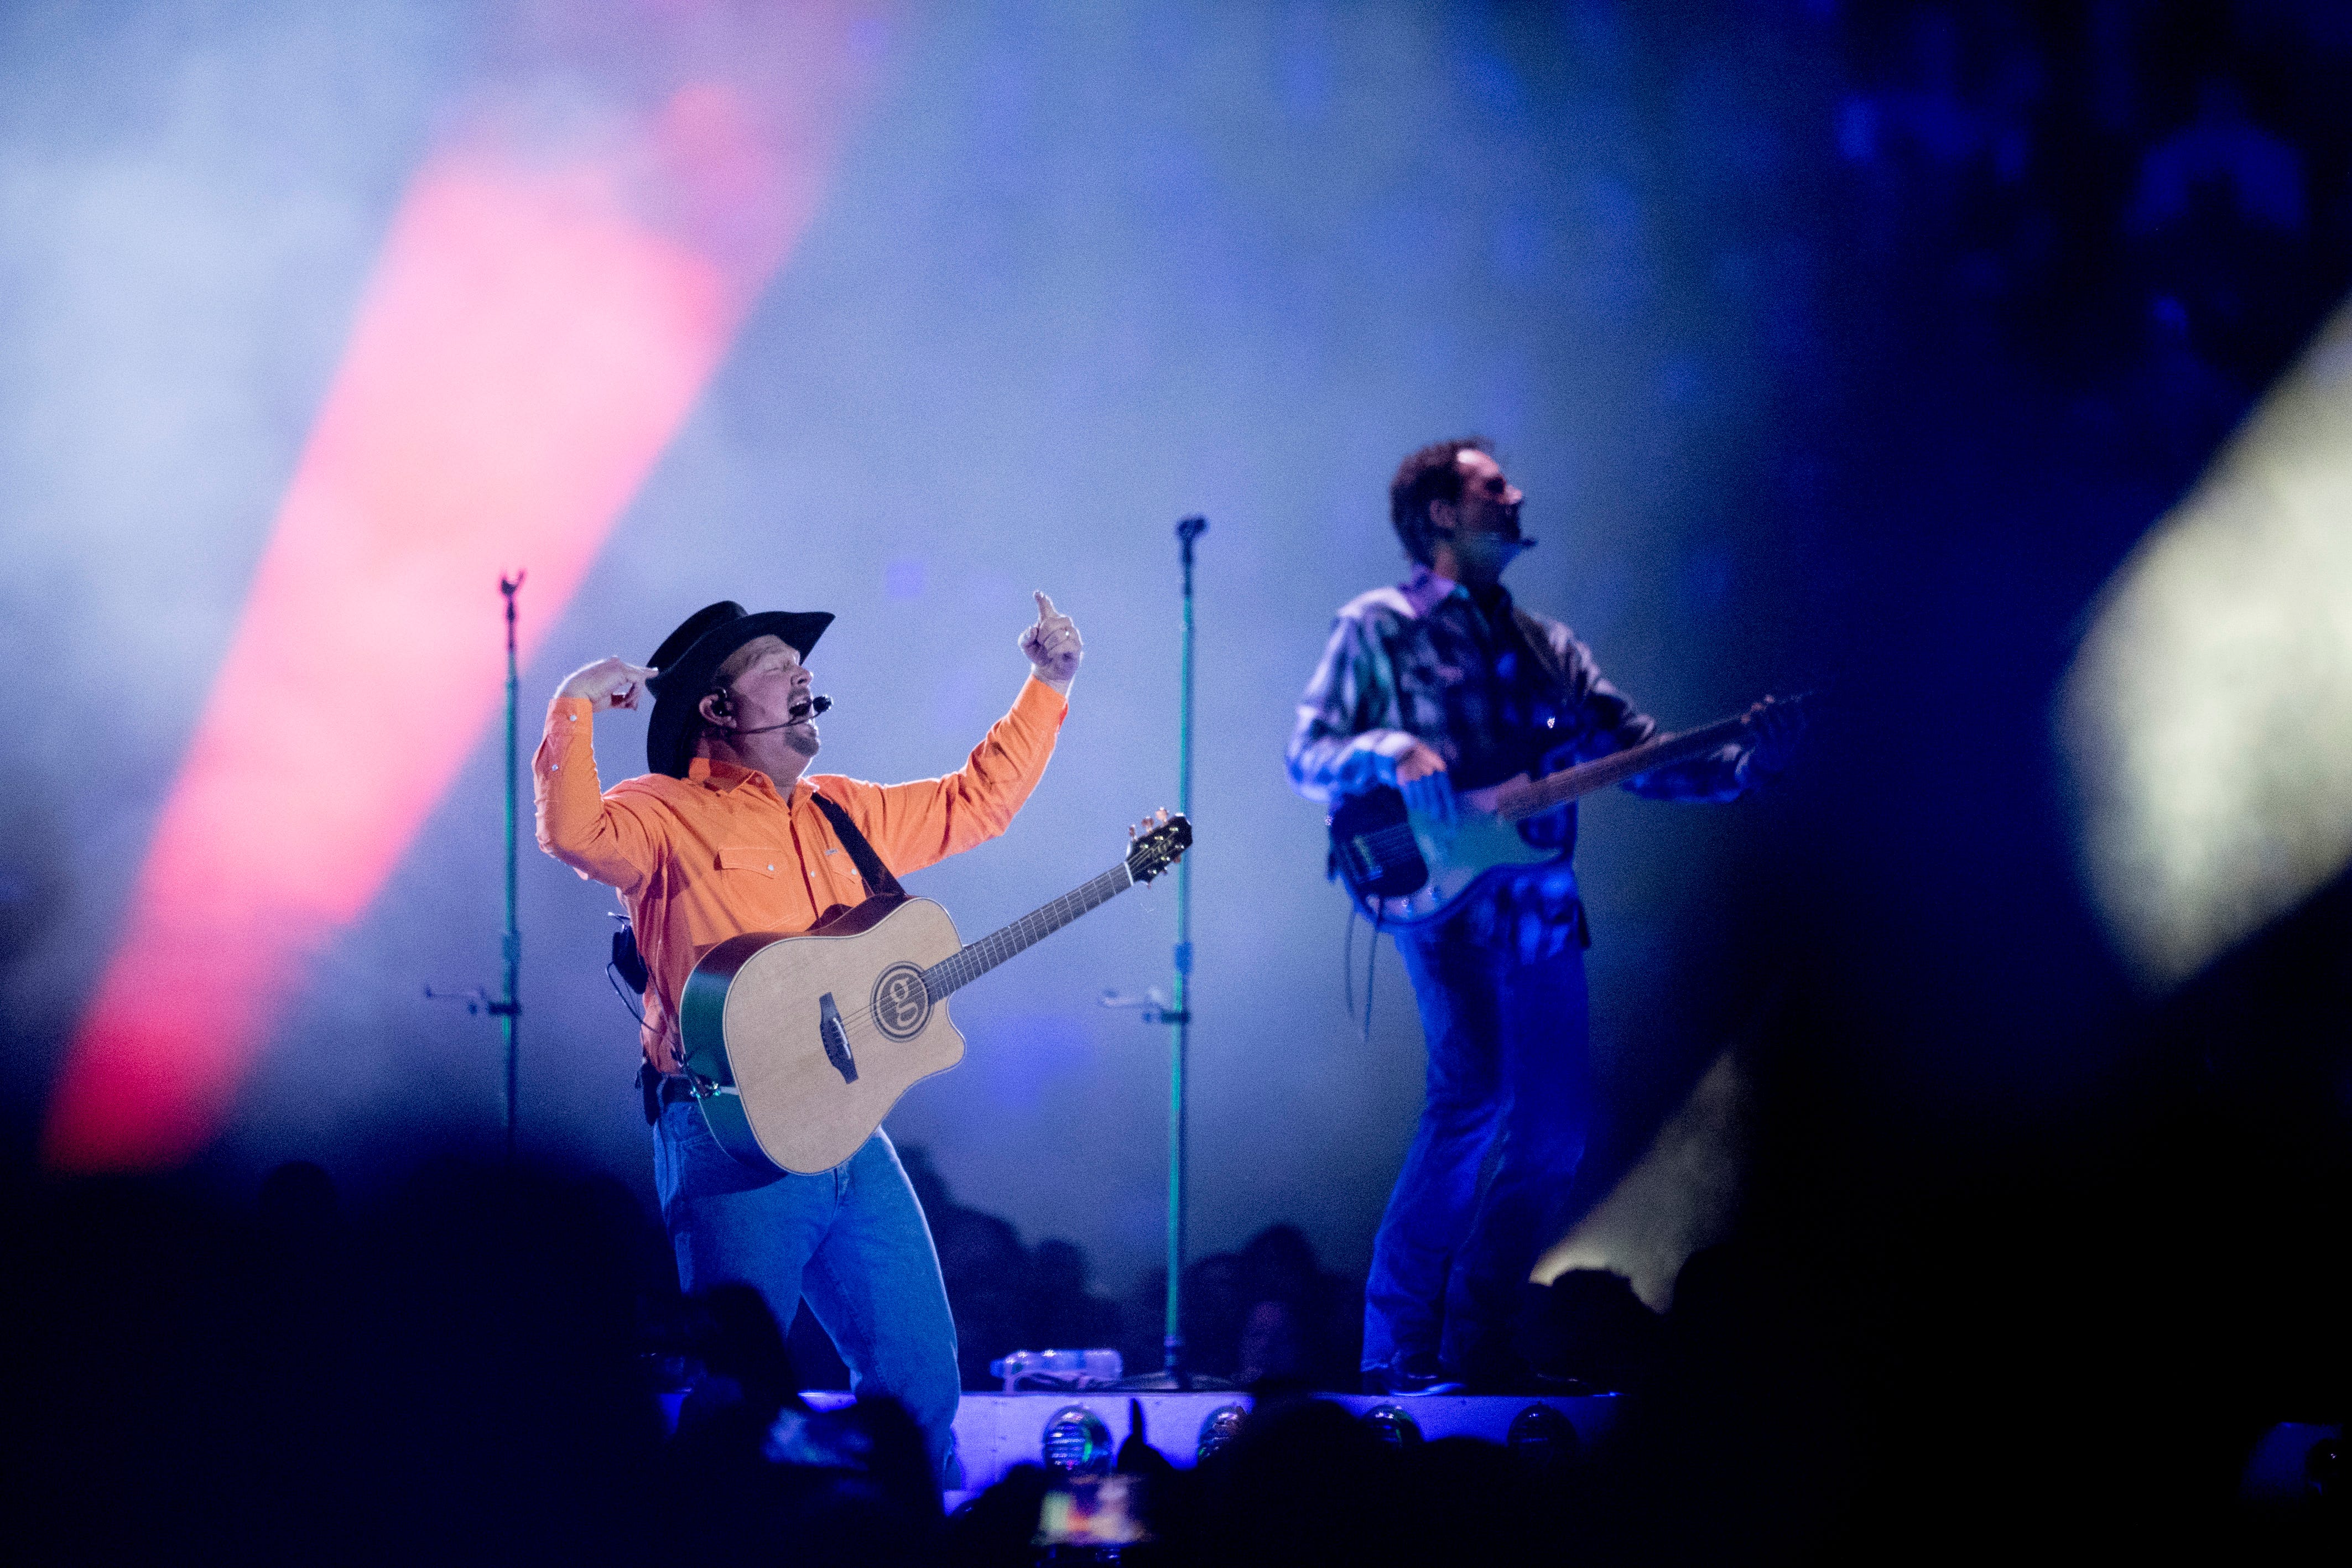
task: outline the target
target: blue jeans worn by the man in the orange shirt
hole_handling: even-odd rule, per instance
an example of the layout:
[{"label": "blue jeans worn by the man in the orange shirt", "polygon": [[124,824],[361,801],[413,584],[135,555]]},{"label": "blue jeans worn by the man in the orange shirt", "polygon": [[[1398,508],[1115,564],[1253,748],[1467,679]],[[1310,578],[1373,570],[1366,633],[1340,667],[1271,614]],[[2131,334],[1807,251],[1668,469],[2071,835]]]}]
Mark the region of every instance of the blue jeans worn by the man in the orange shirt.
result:
[{"label": "blue jeans worn by the man in the orange shirt", "polygon": [[741,1281],[793,1326],[802,1298],[849,1363],[849,1387],[889,1394],[931,1443],[946,1483],[955,1458],[955,1319],[931,1227],[887,1133],[823,1175],[753,1171],[717,1145],[691,1105],[654,1124],[654,1190],[687,1291]]}]

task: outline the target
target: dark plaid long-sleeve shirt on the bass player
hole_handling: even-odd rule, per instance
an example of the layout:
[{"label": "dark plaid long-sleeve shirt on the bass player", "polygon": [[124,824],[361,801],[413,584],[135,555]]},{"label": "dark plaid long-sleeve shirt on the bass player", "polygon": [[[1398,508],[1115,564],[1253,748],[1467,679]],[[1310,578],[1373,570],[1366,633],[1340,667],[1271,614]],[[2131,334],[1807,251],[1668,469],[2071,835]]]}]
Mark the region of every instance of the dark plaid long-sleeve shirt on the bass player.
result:
[{"label": "dark plaid long-sleeve shirt on the bass player", "polygon": [[[1369,788],[1378,757],[1402,757],[1421,741],[1446,759],[1456,790],[1477,790],[1621,752],[1656,729],[1602,679],[1566,625],[1519,609],[1501,588],[1482,604],[1465,585],[1416,567],[1404,583],[1341,607],[1298,698],[1289,771],[1301,795],[1331,802]],[[1689,802],[1733,799],[1745,785],[1736,745],[1625,783],[1635,795]],[[1573,802],[1522,823],[1522,835],[1571,851]],[[1536,917],[1555,940],[1564,929],[1581,933],[1564,856],[1557,867],[1489,884],[1491,898],[1472,919]]]}]

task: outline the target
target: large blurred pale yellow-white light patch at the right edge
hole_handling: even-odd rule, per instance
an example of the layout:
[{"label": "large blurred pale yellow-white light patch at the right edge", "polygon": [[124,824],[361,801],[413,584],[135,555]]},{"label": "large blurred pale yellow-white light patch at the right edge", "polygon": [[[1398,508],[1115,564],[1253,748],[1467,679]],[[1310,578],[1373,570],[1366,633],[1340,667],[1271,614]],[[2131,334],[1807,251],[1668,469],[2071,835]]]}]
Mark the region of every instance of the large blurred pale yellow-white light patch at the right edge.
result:
[{"label": "large blurred pale yellow-white light patch at the right edge", "polygon": [[2352,858],[2352,308],[2107,583],[2053,722],[2084,879],[2152,990]]}]

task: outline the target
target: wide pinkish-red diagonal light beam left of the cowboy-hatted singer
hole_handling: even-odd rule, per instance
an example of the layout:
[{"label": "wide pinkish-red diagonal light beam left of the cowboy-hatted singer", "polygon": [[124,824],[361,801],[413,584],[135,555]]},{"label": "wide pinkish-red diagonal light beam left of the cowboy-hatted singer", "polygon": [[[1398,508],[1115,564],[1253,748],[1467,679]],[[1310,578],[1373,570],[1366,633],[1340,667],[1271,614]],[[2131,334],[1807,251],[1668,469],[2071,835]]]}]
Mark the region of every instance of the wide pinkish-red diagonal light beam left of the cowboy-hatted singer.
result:
[{"label": "wide pinkish-red diagonal light beam left of the cowboy-hatted singer", "polygon": [[555,621],[807,226],[830,139],[793,141],[699,82],[597,158],[473,139],[416,174],[71,1044],[49,1166],[160,1168],[219,1131],[489,724],[499,574],[529,567],[527,625]]}]

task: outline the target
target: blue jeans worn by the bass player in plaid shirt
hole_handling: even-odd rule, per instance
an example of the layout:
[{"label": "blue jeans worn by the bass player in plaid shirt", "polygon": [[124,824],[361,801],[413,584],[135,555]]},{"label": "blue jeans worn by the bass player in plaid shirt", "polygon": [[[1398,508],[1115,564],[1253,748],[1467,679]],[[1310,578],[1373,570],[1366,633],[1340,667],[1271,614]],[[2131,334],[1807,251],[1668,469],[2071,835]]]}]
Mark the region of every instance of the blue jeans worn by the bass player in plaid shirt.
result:
[{"label": "blue jeans worn by the bass player in plaid shirt", "polygon": [[1430,1070],[1371,1244],[1367,1371],[1435,1352],[1456,1373],[1508,1375],[1526,1274],[1571,1213],[1592,1114],[1585,952],[1573,926],[1538,957],[1482,936],[1461,914],[1397,933]]}]

